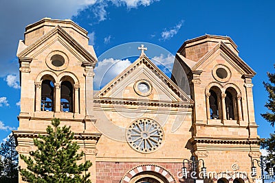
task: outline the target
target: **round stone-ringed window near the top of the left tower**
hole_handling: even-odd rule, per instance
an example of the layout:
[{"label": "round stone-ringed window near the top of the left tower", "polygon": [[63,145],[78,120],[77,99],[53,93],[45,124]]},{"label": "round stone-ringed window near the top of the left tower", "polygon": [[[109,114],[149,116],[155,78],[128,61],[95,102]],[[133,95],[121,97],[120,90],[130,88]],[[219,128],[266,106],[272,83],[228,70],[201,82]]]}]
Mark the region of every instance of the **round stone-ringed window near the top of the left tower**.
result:
[{"label": "round stone-ringed window near the top of the left tower", "polygon": [[46,64],[54,71],[62,71],[67,68],[69,58],[62,51],[52,51],[47,55]]}]

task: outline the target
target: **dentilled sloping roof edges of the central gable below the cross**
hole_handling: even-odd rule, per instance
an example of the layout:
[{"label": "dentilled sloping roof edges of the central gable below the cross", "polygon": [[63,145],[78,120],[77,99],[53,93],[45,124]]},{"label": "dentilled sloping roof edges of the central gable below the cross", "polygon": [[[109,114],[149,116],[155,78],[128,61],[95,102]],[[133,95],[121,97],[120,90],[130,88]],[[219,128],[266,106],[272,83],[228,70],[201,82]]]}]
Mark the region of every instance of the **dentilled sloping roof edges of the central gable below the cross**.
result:
[{"label": "dentilled sloping roof edges of the central gable below the cross", "polygon": [[122,81],[127,75],[129,75],[129,73],[132,73],[135,69],[137,69],[137,67],[140,66],[142,63],[145,64],[148,67],[148,69],[151,69],[157,75],[159,75],[159,77],[161,77],[162,80],[164,82],[166,82],[167,86],[171,90],[173,90],[173,92],[178,97],[180,97],[180,98],[183,97],[184,101],[187,101],[188,103],[194,103],[194,101],[192,101],[192,99],[190,99],[190,97],[188,97],[188,95],[186,95],[186,93],[184,93],[184,91],[181,90],[181,88],[179,88],[179,86],[177,86],[172,80],[170,80],[170,78],[167,77],[157,66],[155,66],[155,64],[153,64],[153,62],[151,62],[151,60],[149,60],[145,55],[141,55],[140,58],[135,60],[135,62],[133,62],[130,66],[128,66],[124,71],[122,71],[122,73],[120,73],[120,75],[118,75],[113,80],[111,80],[111,82],[109,82],[109,84],[104,86],[99,91],[99,93],[97,93],[97,96],[104,97],[104,95],[106,93],[108,93],[109,90],[111,90],[116,84],[118,84],[120,81]]}]

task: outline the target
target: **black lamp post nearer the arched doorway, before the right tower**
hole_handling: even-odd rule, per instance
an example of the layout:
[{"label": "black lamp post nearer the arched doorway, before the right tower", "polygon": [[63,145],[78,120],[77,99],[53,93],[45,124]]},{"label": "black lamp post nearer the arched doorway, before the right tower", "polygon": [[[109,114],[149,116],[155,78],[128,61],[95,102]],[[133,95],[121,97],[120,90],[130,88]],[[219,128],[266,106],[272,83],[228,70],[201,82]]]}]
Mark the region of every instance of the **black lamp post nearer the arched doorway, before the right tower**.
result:
[{"label": "black lamp post nearer the arched doorway, before the right tower", "polygon": [[[184,161],[182,162],[184,164],[184,167],[182,167],[181,169],[181,173],[183,177],[185,178],[188,177],[187,175],[188,171],[187,171],[187,167],[185,167],[185,164],[187,163],[189,167],[192,167],[193,172],[197,172],[196,169],[199,166],[199,161],[202,161],[201,171],[203,173],[203,179],[207,178],[207,171],[206,171],[206,167],[204,167],[203,159],[196,160],[195,156],[191,156],[190,160],[184,159]],[[194,180],[194,183],[196,183],[196,179],[194,177],[192,177],[192,179]]]}]

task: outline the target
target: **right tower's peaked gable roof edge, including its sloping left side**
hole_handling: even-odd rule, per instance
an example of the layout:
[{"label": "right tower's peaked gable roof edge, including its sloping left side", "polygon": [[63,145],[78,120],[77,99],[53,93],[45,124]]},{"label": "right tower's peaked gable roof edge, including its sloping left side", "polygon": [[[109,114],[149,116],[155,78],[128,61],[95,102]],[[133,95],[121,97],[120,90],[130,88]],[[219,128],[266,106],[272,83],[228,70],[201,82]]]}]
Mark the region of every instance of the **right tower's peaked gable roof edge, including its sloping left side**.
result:
[{"label": "right tower's peaked gable roof edge, including its sloping left side", "polygon": [[[230,64],[232,64],[232,66],[234,66],[237,71],[240,71],[241,74],[256,75],[256,72],[250,66],[248,66],[248,64],[246,64],[238,55],[236,55],[236,53],[234,53],[227,45],[225,45],[223,41],[217,43],[217,45],[210,49],[210,51],[208,51],[208,53],[206,53],[197,62],[184,58],[184,56],[181,56],[180,53],[177,53],[177,56],[179,56],[179,58],[181,58],[181,60],[185,62],[190,70],[200,70],[203,62],[206,62],[206,60],[208,60],[208,58],[210,58],[210,56],[212,56],[218,49],[221,49],[221,51],[223,51],[226,56],[234,61],[234,63],[231,62]],[[228,60],[228,62],[230,62],[230,60]],[[243,71],[241,71],[237,66],[239,66],[239,68],[241,68]]]}]

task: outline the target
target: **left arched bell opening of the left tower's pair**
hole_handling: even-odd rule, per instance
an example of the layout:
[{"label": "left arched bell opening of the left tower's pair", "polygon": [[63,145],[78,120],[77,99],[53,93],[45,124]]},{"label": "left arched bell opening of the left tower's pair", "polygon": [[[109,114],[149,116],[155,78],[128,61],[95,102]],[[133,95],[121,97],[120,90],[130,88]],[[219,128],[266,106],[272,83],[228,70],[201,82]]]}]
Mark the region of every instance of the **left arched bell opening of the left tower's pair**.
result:
[{"label": "left arched bell opening of the left tower's pair", "polygon": [[54,111],[54,83],[43,80],[41,84],[41,111]]}]

